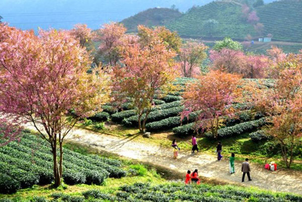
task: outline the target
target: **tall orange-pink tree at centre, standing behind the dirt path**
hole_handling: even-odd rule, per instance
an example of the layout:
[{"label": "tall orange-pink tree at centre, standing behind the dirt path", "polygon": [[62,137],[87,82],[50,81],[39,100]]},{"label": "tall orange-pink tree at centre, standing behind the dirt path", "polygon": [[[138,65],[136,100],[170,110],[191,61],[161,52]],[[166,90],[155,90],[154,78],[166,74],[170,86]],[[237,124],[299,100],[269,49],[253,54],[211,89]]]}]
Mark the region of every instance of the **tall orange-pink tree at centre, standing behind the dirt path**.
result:
[{"label": "tall orange-pink tree at centre, standing behind the dirt path", "polygon": [[156,93],[167,90],[179,75],[178,65],[173,59],[175,51],[167,48],[157,33],[152,31],[152,34],[147,42],[125,43],[122,64],[114,66],[112,71],[113,97],[116,101],[130,100],[137,111],[140,132],[144,131]]}]

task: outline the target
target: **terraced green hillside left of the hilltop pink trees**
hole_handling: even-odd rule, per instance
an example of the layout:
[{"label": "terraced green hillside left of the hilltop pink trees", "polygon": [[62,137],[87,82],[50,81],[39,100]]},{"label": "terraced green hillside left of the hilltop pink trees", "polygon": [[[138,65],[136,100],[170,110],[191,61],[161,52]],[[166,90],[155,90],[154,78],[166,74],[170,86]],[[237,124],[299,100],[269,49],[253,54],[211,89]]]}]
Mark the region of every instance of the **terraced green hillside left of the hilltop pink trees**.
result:
[{"label": "terraced green hillside left of the hilltop pink trees", "polygon": [[[210,19],[218,23],[211,33],[205,24]],[[216,1],[202,7],[193,7],[167,27],[177,31],[182,37],[231,36],[235,39],[243,39],[248,33],[256,35],[254,27],[241,18],[241,5],[226,1]]]}]

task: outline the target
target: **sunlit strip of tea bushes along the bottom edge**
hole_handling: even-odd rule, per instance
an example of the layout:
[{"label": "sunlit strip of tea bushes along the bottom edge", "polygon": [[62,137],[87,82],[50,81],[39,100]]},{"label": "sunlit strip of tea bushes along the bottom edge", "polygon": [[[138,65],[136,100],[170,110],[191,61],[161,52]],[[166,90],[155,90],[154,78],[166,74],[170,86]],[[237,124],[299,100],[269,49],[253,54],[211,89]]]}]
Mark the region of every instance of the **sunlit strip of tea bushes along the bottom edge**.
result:
[{"label": "sunlit strip of tea bushes along the bottom edge", "polygon": [[[236,186],[210,186],[184,185],[183,183],[166,183],[151,186],[148,183],[135,183],[123,185],[119,190],[108,193],[99,189],[91,189],[81,194],[68,195],[53,193],[50,201],[64,202],[101,202],[101,201],[192,201],[192,202],[239,202],[239,201],[261,201],[261,202],[301,202],[302,197],[286,193],[270,193],[264,191],[252,191]],[[0,202],[12,202],[11,199],[0,199]],[[47,202],[44,197],[34,197],[32,202]]]}]

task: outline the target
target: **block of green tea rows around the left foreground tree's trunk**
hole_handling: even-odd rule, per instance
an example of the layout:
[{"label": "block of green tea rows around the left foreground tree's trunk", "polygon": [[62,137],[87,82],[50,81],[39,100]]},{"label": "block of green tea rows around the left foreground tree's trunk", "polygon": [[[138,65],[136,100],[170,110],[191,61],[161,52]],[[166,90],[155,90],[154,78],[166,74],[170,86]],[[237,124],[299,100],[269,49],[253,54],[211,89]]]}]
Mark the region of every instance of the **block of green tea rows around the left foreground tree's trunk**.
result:
[{"label": "block of green tea rows around the left foreground tree's trunk", "polygon": [[[120,162],[96,155],[81,155],[63,149],[63,179],[67,184],[102,184],[108,176],[123,177],[126,172],[120,169]],[[59,151],[58,151],[59,155]],[[25,135],[20,143],[11,142],[0,147],[0,192],[15,192],[18,188],[33,184],[49,184],[53,180],[53,164],[50,146],[46,141]],[[8,176],[8,177],[7,177]],[[14,179],[17,186],[6,184]],[[13,180],[13,181],[14,181]],[[11,188],[10,188],[11,187]]]}]

